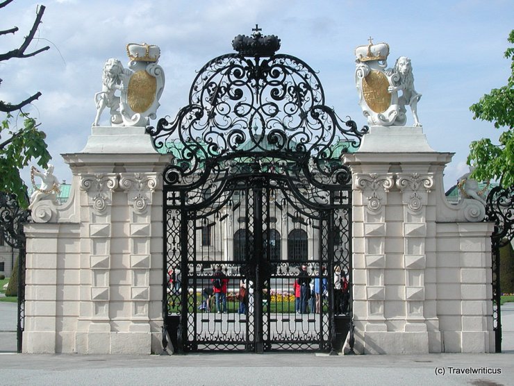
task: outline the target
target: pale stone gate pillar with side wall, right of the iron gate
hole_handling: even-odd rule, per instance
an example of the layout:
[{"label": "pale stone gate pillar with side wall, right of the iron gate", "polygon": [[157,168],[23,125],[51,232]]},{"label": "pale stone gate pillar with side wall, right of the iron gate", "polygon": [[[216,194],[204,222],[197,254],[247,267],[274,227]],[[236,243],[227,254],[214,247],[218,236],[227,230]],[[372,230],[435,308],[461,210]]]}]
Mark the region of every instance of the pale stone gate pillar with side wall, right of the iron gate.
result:
[{"label": "pale stone gate pillar with side wall, right of the iron gate", "polygon": [[490,352],[492,224],[447,203],[421,127],[372,126],[345,155],[354,181],[354,324],[360,353]]}]

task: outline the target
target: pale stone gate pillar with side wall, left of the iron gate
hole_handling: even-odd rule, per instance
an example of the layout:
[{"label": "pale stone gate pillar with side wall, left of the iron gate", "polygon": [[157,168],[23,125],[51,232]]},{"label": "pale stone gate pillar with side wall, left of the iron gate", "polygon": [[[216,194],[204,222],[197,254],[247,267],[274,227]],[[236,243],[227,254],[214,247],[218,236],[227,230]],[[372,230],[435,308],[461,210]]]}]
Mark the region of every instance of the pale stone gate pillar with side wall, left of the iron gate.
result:
[{"label": "pale stone gate pillar with side wall, left of the iron gate", "polygon": [[26,353],[159,352],[162,171],[144,127],[92,128],[65,205],[26,226]]}]

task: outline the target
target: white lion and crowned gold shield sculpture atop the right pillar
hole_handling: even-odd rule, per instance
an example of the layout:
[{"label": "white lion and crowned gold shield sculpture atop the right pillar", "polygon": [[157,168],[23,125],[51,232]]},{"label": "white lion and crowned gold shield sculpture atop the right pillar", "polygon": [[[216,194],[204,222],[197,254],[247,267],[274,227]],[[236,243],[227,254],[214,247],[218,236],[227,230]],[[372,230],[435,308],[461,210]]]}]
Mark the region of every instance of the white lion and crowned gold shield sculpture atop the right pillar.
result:
[{"label": "white lion and crowned gold shield sculpture atop the right pillar", "polygon": [[[359,46],[355,49],[355,81],[359,94],[359,105],[374,126],[405,126],[406,106],[410,106],[414,126],[422,126],[417,117],[417,101],[421,94],[414,90],[411,59],[400,56],[395,67],[388,69],[387,43]],[[401,92],[401,94],[399,94]]]}]

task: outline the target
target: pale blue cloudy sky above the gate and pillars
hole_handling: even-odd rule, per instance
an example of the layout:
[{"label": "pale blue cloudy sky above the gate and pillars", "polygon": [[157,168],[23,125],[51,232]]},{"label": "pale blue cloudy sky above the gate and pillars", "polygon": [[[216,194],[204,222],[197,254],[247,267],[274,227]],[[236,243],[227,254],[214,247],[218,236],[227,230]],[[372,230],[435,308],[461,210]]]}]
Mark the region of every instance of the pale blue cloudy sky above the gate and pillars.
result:
[{"label": "pale blue cloudy sky above the gate and pillars", "polygon": [[[37,91],[26,108],[47,133],[55,174],[69,181],[60,153],[81,151],[95,115],[94,93],[108,58],[124,64],[126,44],[160,46],[166,86],[158,117],[176,115],[187,104],[195,72],[215,56],[232,51],[231,41],[251,34],[281,38],[281,53],[301,58],[319,72],[326,104],[340,117],[366,124],[357,104],[354,49],[374,42],[390,45],[389,65],[399,56],[413,63],[415,88],[423,94],[418,115],[429,144],[455,153],[445,170],[445,189],[467,167],[469,144],[481,137],[496,141],[492,124],[474,121],[469,106],[493,87],[506,84],[510,62],[503,57],[514,28],[514,1],[365,0],[47,0],[43,24],[32,50],[51,49],[33,58],[0,62],[0,99],[17,103]],[[0,29],[18,26],[0,38],[0,53],[19,47],[30,30],[38,3],[15,0],[0,9]],[[29,49],[27,52],[31,51]],[[107,112],[103,114],[107,122]],[[0,116],[3,119],[3,116]],[[408,124],[412,117],[408,112]],[[27,171],[24,171],[26,178]]]}]

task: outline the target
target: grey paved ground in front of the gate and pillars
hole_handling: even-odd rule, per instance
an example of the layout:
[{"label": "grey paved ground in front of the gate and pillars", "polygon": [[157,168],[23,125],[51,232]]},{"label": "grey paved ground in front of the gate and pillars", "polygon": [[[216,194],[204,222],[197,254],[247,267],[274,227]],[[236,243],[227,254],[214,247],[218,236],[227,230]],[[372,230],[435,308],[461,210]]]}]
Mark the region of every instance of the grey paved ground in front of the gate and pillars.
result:
[{"label": "grey paved ground in front of the gate and pillars", "polygon": [[[502,311],[501,354],[20,355],[5,352],[15,351],[13,335],[11,346],[0,339],[0,379],[5,385],[31,386],[513,385],[514,303]],[[15,304],[0,303],[0,331],[15,329],[15,315]]]}]

